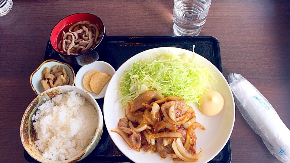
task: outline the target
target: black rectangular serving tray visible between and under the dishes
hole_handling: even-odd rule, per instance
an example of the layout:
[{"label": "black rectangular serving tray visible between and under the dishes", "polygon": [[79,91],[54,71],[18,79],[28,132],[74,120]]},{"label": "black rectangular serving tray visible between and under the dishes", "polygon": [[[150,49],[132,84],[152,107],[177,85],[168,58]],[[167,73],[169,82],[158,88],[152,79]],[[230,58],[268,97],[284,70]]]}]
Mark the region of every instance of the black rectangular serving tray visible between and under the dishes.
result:
[{"label": "black rectangular serving tray visible between and under the dishes", "polygon": [[[107,36],[107,55],[100,56],[99,60],[108,62],[117,70],[127,59],[144,50],[156,47],[178,47],[186,50],[193,50],[199,55],[212,62],[221,72],[220,45],[215,37],[174,37],[174,36]],[[47,43],[44,60],[56,59],[63,61],[52,49],[50,42]],[[70,64],[75,73],[81,68],[79,65]],[[103,110],[104,99],[98,99],[98,104]],[[29,162],[37,162],[25,150],[24,157]],[[232,159],[230,140],[222,151],[210,162],[230,163]],[[80,162],[132,162],[122,154],[114,142],[111,140],[104,123],[104,131],[96,149]]]}]

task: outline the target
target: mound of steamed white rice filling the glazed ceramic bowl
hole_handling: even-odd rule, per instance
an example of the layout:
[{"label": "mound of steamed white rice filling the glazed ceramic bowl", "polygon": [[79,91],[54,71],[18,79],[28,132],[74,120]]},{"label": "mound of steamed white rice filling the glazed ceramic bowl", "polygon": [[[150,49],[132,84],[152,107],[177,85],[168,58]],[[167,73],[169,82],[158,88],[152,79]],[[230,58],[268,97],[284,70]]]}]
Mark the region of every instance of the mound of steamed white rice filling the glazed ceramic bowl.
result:
[{"label": "mound of steamed white rice filling the glazed ceramic bowl", "polygon": [[80,154],[92,141],[97,111],[76,91],[56,95],[38,107],[32,120],[36,148],[44,158],[67,160]]}]

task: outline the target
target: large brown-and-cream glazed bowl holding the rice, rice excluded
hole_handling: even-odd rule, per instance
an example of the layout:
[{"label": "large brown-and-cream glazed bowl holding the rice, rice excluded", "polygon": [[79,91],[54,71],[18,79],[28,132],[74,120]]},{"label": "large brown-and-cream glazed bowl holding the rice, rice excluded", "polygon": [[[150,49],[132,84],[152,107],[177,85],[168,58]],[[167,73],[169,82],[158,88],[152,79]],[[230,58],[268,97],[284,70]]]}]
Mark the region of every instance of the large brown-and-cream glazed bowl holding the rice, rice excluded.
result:
[{"label": "large brown-and-cream glazed bowl holding the rice, rice excluded", "polygon": [[[79,155],[76,155],[75,157],[69,160],[65,160],[65,161],[52,161],[47,158],[43,158],[41,152],[35,147],[34,142],[37,140],[37,135],[32,125],[33,123],[32,116],[37,111],[38,106],[48,101],[52,97],[58,94],[68,92],[68,91],[76,91],[77,93],[81,94],[82,97],[84,97],[87,101],[89,101],[96,108],[98,118],[95,120],[95,122],[92,122],[92,123],[98,123],[98,125],[97,125],[95,135],[92,138],[92,141]],[[89,94],[87,91],[81,88],[77,88],[75,86],[70,86],[70,85],[63,85],[63,86],[54,87],[47,91],[44,91],[43,93],[38,95],[36,98],[34,98],[34,100],[28,105],[27,109],[24,112],[24,115],[22,117],[21,124],[20,124],[20,138],[21,138],[21,142],[24,149],[35,160],[42,163],[56,163],[56,162],[57,163],[70,163],[70,162],[77,162],[84,159],[95,149],[95,147],[98,145],[98,142],[101,139],[101,135],[103,133],[103,127],[104,127],[103,115],[94,97],[92,97],[91,94]]]}]

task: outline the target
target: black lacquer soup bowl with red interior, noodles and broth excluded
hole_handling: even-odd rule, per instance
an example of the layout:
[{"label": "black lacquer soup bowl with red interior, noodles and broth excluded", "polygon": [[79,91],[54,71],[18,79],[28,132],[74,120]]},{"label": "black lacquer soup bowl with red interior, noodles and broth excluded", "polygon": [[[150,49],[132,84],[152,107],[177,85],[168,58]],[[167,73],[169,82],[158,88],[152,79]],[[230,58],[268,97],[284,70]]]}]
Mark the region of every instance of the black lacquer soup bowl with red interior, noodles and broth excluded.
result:
[{"label": "black lacquer soup bowl with red interior, noodles and broth excluded", "polygon": [[[103,36],[100,38],[100,41],[98,42],[98,44],[96,44],[94,48],[85,53],[77,55],[66,55],[60,53],[60,50],[58,49],[58,43],[60,42],[60,40],[62,40],[61,37],[63,31],[68,32],[69,27],[79,21],[89,21],[93,24],[97,24],[98,27],[101,29],[101,33],[103,33]],[[99,17],[89,13],[78,13],[69,15],[59,21],[53,28],[50,34],[50,44],[53,47],[53,51],[66,62],[81,66],[88,65],[92,62],[95,62],[100,57],[105,57],[106,55],[106,30],[104,23]]]}]

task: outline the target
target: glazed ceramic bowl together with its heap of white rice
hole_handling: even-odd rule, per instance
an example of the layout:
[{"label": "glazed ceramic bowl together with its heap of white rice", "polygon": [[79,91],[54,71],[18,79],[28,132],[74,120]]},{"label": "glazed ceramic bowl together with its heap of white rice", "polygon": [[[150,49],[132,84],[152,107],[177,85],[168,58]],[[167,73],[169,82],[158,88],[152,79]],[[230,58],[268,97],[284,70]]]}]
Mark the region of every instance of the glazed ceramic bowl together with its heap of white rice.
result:
[{"label": "glazed ceramic bowl together with its heap of white rice", "polygon": [[39,162],[77,162],[97,146],[103,115],[87,91],[59,86],[44,91],[27,107],[21,120],[24,149]]}]

